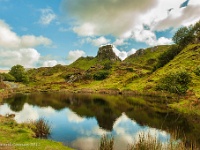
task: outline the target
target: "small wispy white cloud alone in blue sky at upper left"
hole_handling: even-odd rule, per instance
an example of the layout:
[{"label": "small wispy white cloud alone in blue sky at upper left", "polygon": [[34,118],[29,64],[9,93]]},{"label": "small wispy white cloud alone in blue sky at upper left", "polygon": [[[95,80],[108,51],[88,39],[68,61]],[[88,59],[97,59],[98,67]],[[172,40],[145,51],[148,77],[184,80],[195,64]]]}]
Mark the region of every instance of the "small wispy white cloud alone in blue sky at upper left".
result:
[{"label": "small wispy white cloud alone in blue sky at upper left", "polygon": [[40,24],[49,25],[53,20],[56,19],[56,15],[51,8],[41,9],[41,17],[39,20]]}]

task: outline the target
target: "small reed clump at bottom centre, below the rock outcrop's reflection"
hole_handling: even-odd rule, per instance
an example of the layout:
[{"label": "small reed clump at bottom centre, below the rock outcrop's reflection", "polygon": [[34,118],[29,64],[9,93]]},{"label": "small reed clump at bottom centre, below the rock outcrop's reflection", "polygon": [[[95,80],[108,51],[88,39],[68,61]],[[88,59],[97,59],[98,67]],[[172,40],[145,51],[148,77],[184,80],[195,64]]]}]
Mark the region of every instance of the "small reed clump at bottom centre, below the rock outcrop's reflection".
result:
[{"label": "small reed clump at bottom centre, below the rock outcrop's reflection", "polygon": [[103,135],[100,140],[99,150],[113,150],[114,138]]}]

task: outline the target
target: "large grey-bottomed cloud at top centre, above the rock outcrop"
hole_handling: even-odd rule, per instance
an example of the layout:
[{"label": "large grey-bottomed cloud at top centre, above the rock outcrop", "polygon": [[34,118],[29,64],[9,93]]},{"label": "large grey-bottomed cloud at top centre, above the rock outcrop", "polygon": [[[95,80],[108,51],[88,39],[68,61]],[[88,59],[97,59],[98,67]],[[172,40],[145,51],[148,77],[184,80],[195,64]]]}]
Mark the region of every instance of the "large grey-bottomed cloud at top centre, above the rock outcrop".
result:
[{"label": "large grey-bottomed cloud at top centre, above the rock outcrop", "polygon": [[62,9],[75,19],[74,31],[79,35],[112,34],[121,36],[137,23],[137,16],[145,13],[157,0],[63,0]]}]

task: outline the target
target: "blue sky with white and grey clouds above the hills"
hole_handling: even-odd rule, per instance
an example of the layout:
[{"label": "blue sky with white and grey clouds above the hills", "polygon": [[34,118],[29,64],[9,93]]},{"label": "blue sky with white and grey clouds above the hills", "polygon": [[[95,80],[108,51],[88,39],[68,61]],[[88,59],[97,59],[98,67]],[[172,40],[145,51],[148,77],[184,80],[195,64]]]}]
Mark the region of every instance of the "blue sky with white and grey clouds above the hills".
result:
[{"label": "blue sky with white and grey clouds above the hills", "polygon": [[0,69],[68,65],[106,44],[124,60],[199,14],[200,0],[0,0]]}]

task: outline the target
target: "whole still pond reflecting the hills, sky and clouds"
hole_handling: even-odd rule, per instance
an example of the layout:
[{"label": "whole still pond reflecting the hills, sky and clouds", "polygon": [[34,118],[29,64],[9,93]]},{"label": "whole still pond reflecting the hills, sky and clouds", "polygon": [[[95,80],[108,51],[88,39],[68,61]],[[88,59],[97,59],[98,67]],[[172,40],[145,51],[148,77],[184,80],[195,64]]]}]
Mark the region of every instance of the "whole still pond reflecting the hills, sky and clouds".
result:
[{"label": "whole still pond reflecting the hills, sky and clouds", "polygon": [[127,149],[141,132],[166,142],[177,128],[180,138],[186,135],[198,142],[199,125],[168,109],[167,102],[153,97],[18,94],[4,99],[0,114],[15,114],[18,123],[45,118],[52,127],[50,139],[79,150],[97,149],[105,134],[114,137],[116,150]]}]

